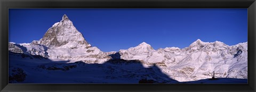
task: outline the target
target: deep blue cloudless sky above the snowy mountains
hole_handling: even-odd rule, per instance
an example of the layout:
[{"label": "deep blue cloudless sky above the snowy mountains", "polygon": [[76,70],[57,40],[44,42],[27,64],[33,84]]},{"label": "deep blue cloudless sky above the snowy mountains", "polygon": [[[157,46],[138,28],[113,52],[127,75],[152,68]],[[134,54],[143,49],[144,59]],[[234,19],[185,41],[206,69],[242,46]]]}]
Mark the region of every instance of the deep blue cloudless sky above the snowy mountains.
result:
[{"label": "deep blue cloudless sky above the snowy mountains", "polygon": [[247,9],[9,9],[9,41],[39,40],[63,14],[103,52],[143,41],[154,49],[184,48],[197,39],[247,41]]}]

